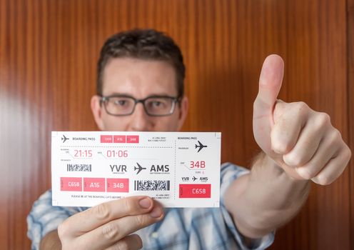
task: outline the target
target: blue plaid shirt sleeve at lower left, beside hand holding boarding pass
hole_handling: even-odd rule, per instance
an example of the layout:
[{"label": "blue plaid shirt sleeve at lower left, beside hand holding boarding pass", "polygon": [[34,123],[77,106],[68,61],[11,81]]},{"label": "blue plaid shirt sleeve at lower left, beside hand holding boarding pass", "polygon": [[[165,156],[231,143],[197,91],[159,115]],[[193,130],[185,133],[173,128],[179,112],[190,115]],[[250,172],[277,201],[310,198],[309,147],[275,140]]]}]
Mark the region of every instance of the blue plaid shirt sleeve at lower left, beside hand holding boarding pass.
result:
[{"label": "blue plaid shirt sleeve at lower left, beside hand holding boarding pass", "polygon": [[65,219],[83,210],[80,207],[52,206],[51,190],[46,191],[34,202],[27,216],[27,236],[32,241],[31,249],[39,249],[41,239],[46,234],[57,229]]}]

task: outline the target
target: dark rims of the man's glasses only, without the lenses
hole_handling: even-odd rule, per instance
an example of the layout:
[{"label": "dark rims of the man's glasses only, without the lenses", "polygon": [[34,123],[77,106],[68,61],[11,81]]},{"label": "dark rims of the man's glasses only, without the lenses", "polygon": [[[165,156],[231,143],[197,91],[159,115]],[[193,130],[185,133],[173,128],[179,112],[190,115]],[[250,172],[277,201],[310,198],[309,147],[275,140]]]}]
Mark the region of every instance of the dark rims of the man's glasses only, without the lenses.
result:
[{"label": "dark rims of the man's glasses only, without the lenses", "polygon": [[[131,113],[129,113],[129,114],[112,114],[112,113],[110,113],[107,110],[106,103],[107,103],[107,101],[109,101],[109,99],[111,99],[113,97],[125,97],[125,98],[132,99],[134,101],[134,107],[133,107]],[[148,113],[148,110],[146,109],[146,106],[145,106],[145,101],[148,100],[148,99],[151,99],[151,98],[167,98],[167,99],[171,99],[173,106],[172,106],[172,109],[171,109],[170,113],[169,114],[150,114],[150,113]],[[134,113],[136,104],[138,104],[138,103],[143,104],[143,109],[144,109],[145,113],[148,116],[171,116],[171,114],[173,114],[173,112],[176,109],[176,102],[179,102],[179,101],[181,101],[181,97],[178,97],[178,96],[177,97],[175,97],[175,96],[147,96],[144,99],[136,99],[133,96],[123,95],[123,94],[122,95],[121,94],[118,94],[118,95],[114,94],[114,95],[111,95],[111,96],[101,96],[100,104],[102,105],[102,103],[103,103],[104,109],[106,110],[107,114],[110,114],[111,116],[130,116],[131,114]]]}]

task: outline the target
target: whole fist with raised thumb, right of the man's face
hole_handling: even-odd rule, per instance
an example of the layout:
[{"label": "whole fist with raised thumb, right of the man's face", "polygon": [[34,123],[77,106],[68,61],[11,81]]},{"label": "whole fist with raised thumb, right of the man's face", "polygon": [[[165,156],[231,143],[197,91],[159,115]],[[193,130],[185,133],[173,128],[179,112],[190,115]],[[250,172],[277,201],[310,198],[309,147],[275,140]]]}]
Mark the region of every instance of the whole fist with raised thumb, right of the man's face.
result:
[{"label": "whole fist with raised thumb, right of the man's face", "polygon": [[253,104],[253,134],[258,146],[293,179],[327,185],[342,174],[351,156],[330,116],[310,109],[303,102],[277,99],[284,63],[268,56]]}]

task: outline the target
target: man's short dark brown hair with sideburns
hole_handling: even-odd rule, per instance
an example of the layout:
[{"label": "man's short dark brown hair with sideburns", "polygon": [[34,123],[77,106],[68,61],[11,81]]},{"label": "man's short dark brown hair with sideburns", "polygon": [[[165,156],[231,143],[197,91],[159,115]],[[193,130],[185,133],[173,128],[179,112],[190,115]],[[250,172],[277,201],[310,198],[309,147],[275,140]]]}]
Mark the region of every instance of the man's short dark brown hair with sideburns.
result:
[{"label": "man's short dark brown hair with sideburns", "polygon": [[112,58],[130,57],[166,61],[176,70],[178,97],[184,94],[186,67],[181,49],[171,37],[154,29],[133,29],[109,37],[103,44],[97,67],[96,91],[102,96],[103,70]]}]

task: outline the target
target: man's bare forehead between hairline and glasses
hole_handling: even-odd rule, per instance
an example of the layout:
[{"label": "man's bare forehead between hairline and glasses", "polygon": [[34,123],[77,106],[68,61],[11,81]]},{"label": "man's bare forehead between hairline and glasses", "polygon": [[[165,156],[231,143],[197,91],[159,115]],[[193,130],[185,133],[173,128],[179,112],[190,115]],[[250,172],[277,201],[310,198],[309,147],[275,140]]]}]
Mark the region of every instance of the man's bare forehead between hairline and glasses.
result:
[{"label": "man's bare forehead between hairline and glasses", "polygon": [[166,61],[111,59],[103,70],[103,96],[111,94],[176,96],[176,71]]}]

